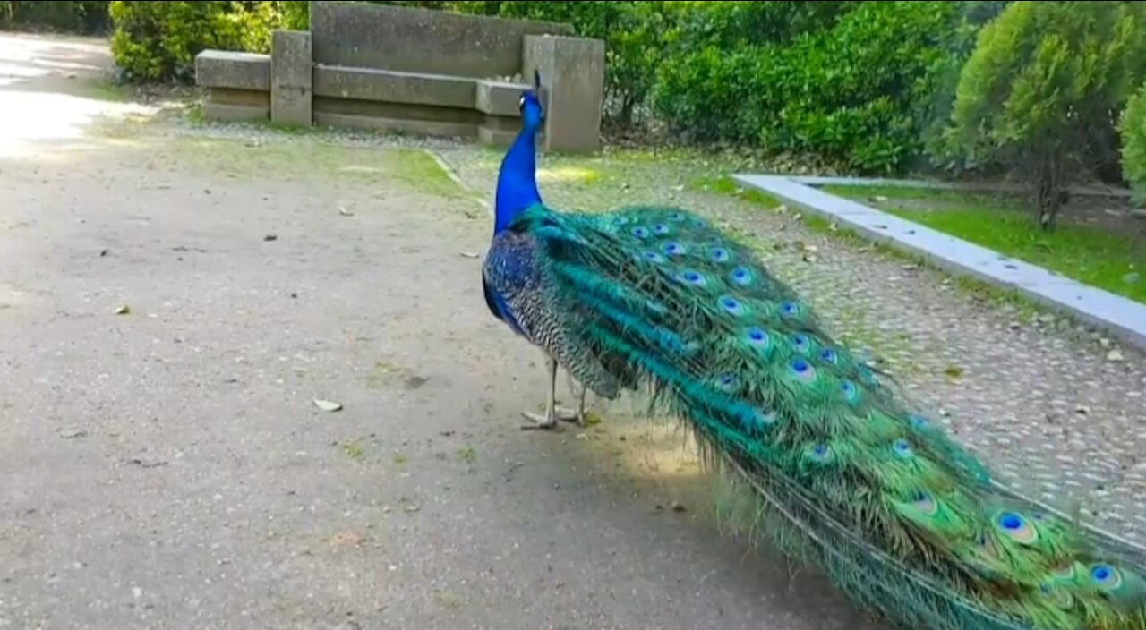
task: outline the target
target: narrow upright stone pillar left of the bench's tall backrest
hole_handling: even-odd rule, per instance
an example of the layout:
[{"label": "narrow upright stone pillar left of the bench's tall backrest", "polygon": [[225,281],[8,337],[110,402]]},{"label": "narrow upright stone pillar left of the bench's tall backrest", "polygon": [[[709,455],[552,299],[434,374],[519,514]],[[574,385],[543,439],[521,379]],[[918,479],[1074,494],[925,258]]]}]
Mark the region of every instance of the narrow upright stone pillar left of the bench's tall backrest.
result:
[{"label": "narrow upright stone pillar left of the bench's tall backrest", "polygon": [[270,36],[270,120],[314,124],[313,40],[309,31],[276,30]]}]

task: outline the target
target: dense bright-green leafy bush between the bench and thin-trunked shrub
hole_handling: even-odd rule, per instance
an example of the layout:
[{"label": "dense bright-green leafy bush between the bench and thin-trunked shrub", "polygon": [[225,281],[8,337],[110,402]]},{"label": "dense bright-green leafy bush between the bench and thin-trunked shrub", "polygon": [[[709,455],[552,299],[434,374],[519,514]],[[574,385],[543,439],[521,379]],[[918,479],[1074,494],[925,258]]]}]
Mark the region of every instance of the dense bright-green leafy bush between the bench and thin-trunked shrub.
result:
[{"label": "dense bright-green leafy bush between the bench and thin-trunked shrub", "polygon": [[657,112],[700,141],[894,171],[921,151],[917,112],[957,48],[960,18],[959,2],[840,3],[825,27],[685,48],[660,66]]}]

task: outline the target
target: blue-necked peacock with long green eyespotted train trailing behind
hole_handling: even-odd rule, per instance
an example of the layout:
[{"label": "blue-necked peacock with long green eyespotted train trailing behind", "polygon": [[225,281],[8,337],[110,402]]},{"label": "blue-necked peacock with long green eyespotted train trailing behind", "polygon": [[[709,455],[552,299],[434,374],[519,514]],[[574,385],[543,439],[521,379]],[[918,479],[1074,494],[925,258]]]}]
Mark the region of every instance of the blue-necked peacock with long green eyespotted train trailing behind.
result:
[{"label": "blue-necked peacock with long green eyespotted train trailing behind", "polygon": [[[586,389],[644,391],[764,540],[903,628],[1146,629],[1146,551],[994,481],[749,247],[678,207],[547,206],[533,79],[481,271],[490,313],[547,357],[547,408],[524,426],[583,419]],[[558,367],[583,387],[576,410],[556,407]]]}]

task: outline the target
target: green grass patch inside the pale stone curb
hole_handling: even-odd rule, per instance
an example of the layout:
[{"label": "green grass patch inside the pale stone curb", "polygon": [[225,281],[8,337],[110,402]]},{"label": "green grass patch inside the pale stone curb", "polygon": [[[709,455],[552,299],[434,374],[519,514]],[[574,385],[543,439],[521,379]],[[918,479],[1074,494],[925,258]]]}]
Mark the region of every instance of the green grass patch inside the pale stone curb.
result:
[{"label": "green grass patch inside the pale stone curb", "polygon": [[[823,190],[1146,304],[1141,238],[1065,223],[1044,233],[1018,199],[1004,196],[889,187]],[[942,202],[945,210],[927,210],[927,202]]]}]

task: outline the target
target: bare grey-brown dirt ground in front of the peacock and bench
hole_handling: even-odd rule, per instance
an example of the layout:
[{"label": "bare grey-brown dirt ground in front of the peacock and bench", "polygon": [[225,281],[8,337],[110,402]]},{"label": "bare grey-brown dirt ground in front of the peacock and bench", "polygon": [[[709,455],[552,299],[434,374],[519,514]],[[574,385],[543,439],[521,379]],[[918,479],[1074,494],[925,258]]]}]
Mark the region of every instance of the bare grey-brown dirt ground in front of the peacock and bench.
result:
[{"label": "bare grey-brown dirt ground in front of the peacock and bench", "polygon": [[143,132],[108,62],[0,37],[0,628],[858,627],[672,434],[517,428],[424,153]]}]

